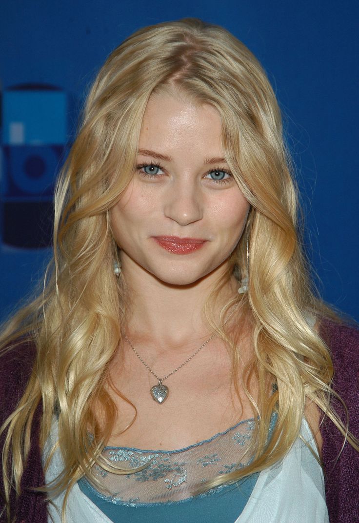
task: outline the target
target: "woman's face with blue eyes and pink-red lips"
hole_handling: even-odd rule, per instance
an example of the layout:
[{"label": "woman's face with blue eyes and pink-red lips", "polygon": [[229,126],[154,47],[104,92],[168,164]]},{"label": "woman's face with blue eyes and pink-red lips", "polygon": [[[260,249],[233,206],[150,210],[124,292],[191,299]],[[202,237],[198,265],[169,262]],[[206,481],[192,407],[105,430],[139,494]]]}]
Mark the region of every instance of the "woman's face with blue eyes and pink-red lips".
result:
[{"label": "woman's face with blue eyes and pink-red lips", "polygon": [[111,211],[124,275],[189,285],[226,270],[249,203],[223,158],[221,132],[210,105],[150,97],[134,177]]}]

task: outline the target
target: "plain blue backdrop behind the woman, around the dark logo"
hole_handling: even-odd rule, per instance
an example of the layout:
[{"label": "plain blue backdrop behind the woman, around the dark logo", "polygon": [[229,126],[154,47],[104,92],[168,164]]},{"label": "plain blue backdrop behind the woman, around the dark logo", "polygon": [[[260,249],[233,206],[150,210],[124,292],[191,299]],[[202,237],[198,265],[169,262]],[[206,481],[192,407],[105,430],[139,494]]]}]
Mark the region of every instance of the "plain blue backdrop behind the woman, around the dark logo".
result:
[{"label": "plain blue backdrop behind the woman, around the dark logo", "polygon": [[[258,56],[279,98],[323,297],[359,319],[358,10],[354,0],[6,0],[0,16],[0,85],[7,90],[19,84],[50,84],[65,93],[71,141],[89,83],[109,52],[135,29],[186,16],[223,25]],[[13,144],[21,141],[17,122],[13,138]],[[3,131],[4,147],[5,142]],[[5,158],[9,152],[4,147]],[[5,201],[9,167],[5,161],[2,165]],[[15,205],[22,196],[12,198]],[[6,226],[14,223],[16,234],[22,230],[28,237],[33,207],[25,207],[25,215],[18,209],[11,207]],[[49,256],[48,248],[2,244],[2,317],[34,286]]]}]

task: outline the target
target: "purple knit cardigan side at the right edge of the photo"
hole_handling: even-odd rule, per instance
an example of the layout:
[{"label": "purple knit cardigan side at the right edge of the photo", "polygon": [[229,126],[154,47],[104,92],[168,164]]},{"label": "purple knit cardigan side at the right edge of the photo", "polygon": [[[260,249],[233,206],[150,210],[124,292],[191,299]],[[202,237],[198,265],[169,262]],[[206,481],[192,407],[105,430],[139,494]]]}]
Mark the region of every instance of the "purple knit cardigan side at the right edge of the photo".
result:
[{"label": "purple knit cardigan side at the right edge of the photo", "polygon": [[[333,389],[348,408],[333,399],[332,407],[349,430],[359,438],[359,330],[347,325],[325,322],[322,337],[331,349]],[[322,457],[325,466],[326,497],[330,523],[359,521],[359,452],[340,434],[328,417],[321,426]]]}]

